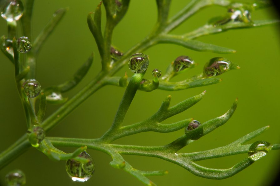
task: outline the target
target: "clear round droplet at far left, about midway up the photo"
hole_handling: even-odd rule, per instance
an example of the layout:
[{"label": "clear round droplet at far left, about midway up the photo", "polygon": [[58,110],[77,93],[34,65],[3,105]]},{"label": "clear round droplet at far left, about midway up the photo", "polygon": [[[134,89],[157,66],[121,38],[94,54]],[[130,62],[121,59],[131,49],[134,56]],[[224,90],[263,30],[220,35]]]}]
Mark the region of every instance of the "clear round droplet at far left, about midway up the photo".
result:
[{"label": "clear round droplet at far left, about midway up the photo", "polygon": [[23,85],[24,93],[29,98],[35,98],[41,92],[41,85],[35,79],[26,80]]}]

